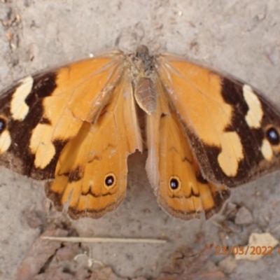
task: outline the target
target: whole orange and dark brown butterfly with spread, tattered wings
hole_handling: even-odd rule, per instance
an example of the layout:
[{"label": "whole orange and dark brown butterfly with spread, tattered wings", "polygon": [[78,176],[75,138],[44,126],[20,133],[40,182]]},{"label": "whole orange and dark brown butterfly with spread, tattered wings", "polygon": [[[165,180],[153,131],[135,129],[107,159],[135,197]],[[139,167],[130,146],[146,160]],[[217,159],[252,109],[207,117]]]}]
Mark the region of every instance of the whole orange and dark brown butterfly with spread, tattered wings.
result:
[{"label": "whole orange and dark brown butterfly with spread, tattered wings", "polygon": [[46,180],[71,218],[116,209],[127,157],[146,149],[162,209],[209,218],[229,188],[279,169],[279,134],[279,111],[250,85],[144,45],[27,76],[0,96],[0,164]]}]

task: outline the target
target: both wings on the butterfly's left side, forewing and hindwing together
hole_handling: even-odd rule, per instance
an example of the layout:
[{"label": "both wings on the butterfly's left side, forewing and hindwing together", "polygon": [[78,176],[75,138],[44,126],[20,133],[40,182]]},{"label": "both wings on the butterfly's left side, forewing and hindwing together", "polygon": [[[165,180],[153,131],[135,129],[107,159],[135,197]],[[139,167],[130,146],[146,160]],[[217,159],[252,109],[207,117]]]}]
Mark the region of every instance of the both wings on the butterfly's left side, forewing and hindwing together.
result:
[{"label": "both wings on the butterfly's left side, forewing and hindwing together", "polygon": [[[141,135],[122,52],[29,76],[0,99],[0,161],[34,179],[69,214],[100,217],[125,197]],[[52,180],[54,179],[54,180]]]}]

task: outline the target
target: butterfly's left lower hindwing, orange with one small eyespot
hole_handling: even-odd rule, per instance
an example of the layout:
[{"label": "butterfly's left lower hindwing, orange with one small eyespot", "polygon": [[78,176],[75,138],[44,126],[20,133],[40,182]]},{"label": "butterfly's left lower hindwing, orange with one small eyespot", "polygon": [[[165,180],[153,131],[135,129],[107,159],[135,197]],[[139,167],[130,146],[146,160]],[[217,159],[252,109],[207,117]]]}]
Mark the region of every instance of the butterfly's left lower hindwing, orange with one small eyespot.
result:
[{"label": "butterfly's left lower hindwing, orange with one small eyespot", "polygon": [[72,218],[99,218],[118,207],[126,193],[127,157],[141,151],[136,117],[132,84],[124,75],[97,120],[84,121],[59,155],[55,181],[46,190],[58,208],[69,202]]}]

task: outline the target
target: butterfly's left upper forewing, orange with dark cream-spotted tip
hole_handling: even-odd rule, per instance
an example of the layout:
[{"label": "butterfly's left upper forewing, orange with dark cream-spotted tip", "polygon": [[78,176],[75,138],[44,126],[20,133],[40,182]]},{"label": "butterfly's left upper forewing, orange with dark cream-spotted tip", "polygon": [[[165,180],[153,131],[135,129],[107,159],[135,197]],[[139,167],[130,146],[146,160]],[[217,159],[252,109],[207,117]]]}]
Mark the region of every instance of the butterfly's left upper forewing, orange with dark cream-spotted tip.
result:
[{"label": "butterfly's left upper forewing, orange with dark cream-spotted tip", "polygon": [[65,144],[99,116],[122,73],[121,52],[28,76],[0,97],[0,160],[49,179]]}]

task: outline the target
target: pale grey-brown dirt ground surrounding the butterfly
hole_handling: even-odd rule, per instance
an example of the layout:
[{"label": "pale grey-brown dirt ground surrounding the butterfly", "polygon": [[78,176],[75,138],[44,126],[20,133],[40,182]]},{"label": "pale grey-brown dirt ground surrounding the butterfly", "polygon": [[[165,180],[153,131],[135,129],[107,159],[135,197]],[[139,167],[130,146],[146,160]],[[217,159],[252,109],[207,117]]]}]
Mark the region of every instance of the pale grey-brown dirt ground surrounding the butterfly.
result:
[{"label": "pale grey-brown dirt ground surrounding the butterfly", "polygon": [[[153,53],[168,50],[246,80],[280,109],[278,0],[1,0],[0,20],[1,90],[29,73],[90,53],[113,48],[132,52],[146,44]],[[215,249],[244,246],[252,232],[269,232],[280,240],[279,172],[232,190],[228,210],[209,221],[181,221],[158,206],[145,160],[145,154],[130,156],[125,202],[99,220],[71,221],[56,213],[43,183],[1,167],[0,279],[16,279],[17,273],[18,279],[176,279],[166,276],[176,273],[178,279],[279,279],[278,246],[273,255],[255,261],[217,255]],[[48,235],[167,243],[50,245],[38,239],[47,229]],[[207,244],[215,244],[212,251]],[[198,257],[190,260],[190,255]],[[105,268],[87,264],[90,258]],[[41,267],[31,271],[30,261],[36,259]]]}]

